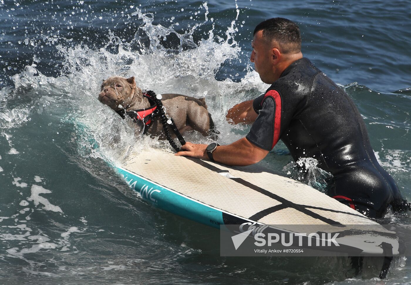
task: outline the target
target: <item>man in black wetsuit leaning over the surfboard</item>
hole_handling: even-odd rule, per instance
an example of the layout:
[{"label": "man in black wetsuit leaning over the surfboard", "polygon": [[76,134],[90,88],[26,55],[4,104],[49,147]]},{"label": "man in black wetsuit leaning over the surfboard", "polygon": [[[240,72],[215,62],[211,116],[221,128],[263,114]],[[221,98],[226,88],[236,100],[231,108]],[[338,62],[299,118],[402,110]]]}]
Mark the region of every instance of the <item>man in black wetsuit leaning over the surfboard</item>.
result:
[{"label": "man in black wetsuit leaning over the surfboard", "polygon": [[176,155],[245,166],[262,160],[281,139],[294,160],[312,157],[334,176],[328,195],[370,218],[407,204],[393,178],[375,158],[367,130],[353,101],[301,53],[300,30],[284,18],[263,21],[254,30],[250,60],[265,94],[237,104],[227,118],[253,123],[226,146],[191,144]]}]

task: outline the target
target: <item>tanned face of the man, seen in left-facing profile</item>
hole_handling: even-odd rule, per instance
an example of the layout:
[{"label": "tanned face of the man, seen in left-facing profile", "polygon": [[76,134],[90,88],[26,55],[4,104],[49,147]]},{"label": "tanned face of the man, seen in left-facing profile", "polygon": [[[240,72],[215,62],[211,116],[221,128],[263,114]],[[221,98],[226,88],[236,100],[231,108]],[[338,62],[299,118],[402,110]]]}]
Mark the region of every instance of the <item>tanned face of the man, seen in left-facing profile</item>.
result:
[{"label": "tanned face of the man, seen in left-facing profile", "polygon": [[271,84],[273,77],[272,55],[270,54],[271,46],[263,39],[263,31],[260,30],[254,35],[251,42],[253,48],[250,61],[254,63],[256,72],[260,75],[261,81]]}]

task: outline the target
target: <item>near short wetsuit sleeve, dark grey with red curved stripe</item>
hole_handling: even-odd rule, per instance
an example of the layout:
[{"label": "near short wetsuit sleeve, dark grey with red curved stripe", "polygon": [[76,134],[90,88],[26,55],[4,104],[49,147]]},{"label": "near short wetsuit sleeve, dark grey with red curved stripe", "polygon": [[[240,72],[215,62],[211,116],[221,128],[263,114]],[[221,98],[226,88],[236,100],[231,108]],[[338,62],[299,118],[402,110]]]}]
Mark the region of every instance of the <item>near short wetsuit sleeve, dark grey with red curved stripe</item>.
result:
[{"label": "near short wetsuit sleeve, dark grey with red curved stripe", "polygon": [[[261,97],[261,96],[260,96]],[[275,90],[268,91],[262,96],[261,110],[258,111],[257,97],[253,102],[254,110],[259,113],[251,130],[246,136],[250,142],[266,151],[271,151],[279,140],[281,127],[281,98]]]}]

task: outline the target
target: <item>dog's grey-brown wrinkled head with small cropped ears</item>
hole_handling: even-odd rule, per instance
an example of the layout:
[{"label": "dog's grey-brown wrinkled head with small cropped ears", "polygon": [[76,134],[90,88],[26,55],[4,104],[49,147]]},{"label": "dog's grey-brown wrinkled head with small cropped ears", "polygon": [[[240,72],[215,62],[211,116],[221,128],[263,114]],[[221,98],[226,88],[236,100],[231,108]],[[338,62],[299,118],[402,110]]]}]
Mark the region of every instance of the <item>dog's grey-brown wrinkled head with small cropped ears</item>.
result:
[{"label": "dog's grey-brown wrinkled head with small cropped ears", "polygon": [[130,78],[111,76],[103,80],[98,99],[111,109],[119,111],[140,102],[142,96],[143,92],[136,86],[134,76]]}]

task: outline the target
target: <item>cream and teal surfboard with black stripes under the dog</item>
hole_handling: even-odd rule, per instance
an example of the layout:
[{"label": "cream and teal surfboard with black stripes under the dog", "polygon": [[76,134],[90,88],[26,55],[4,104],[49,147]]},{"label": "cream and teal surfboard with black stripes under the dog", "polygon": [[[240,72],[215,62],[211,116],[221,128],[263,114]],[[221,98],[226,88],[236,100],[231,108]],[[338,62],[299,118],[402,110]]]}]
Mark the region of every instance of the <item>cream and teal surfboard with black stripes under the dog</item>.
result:
[{"label": "cream and teal surfboard with black stripes under the dog", "polygon": [[[357,230],[362,232],[342,235],[339,242],[371,255],[383,254],[384,242],[393,246],[393,255],[399,254],[393,232],[326,194],[260,165],[228,167],[150,148],[116,169],[151,204],[211,227],[252,223],[280,229],[284,225],[282,230],[287,232],[293,231],[292,225],[300,225],[299,230],[301,225],[328,226],[326,232]],[[364,233],[365,226],[372,227],[371,234]]]}]

